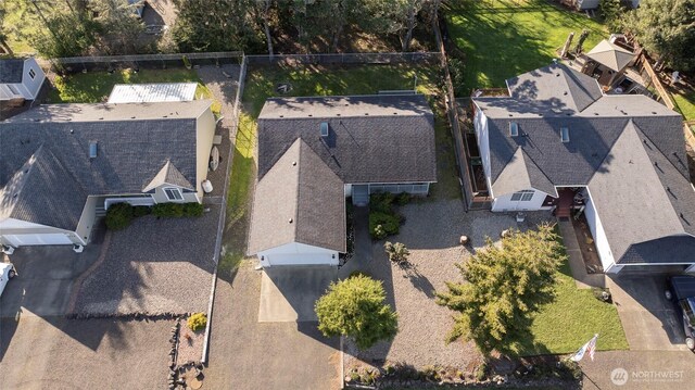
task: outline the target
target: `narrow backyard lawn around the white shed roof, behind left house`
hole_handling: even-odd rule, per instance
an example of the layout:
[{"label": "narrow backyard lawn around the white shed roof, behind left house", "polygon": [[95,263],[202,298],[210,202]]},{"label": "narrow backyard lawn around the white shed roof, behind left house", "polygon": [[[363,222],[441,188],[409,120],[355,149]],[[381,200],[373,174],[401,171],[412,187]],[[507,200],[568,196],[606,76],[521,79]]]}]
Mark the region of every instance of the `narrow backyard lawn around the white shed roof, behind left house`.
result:
[{"label": "narrow backyard lawn around the white shed roof, behind left house", "polygon": [[[50,103],[98,103],[109,99],[111,89],[116,84],[142,83],[198,83],[197,97],[213,99],[212,92],[200,80],[195,71],[178,70],[132,70],[108,72],[76,73],[70,76],[55,77],[54,89],[48,96]],[[219,114],[220,103],[213,102],[213,112]]]}]

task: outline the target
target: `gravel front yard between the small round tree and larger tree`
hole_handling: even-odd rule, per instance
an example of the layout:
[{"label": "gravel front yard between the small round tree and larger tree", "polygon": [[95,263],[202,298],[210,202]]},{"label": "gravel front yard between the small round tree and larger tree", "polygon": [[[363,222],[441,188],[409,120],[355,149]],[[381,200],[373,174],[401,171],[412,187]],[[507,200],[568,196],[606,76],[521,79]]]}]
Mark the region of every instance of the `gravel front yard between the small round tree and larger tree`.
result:
[{"label": "gravel front yard between the small round tree and larger tree", "polygon": [[[445,281],[460,280],[454,266],[470,256],[470,247],[462,247],[462,235],[470,238],[473,250],[484,246],[485,237],[500,239],[509,227],[526,229],[549,217],[548,213],[527,213],[526,222],[517,224],[514,215],[465,213],[459,200],[408,204],[401,209],[406,223],[400,235],[388,238],[403,242],[410,250],[408,265],[391,264],[383,252],[383,241],[372,244],[374,260],[366,271],[383,280],[388,301],[399,313],[399,334],[392,342],[382,342],[358,352],[352,342],[345,343],[345,366],[362,360],[379,365],[383,361],[403,362],[415,367],[428,365],[472,369],[480,354],[472,342],[446,344],[453,313],[434,302],[434,290],[444,290]],[[351,356],[352,355],[352,356]]]}]

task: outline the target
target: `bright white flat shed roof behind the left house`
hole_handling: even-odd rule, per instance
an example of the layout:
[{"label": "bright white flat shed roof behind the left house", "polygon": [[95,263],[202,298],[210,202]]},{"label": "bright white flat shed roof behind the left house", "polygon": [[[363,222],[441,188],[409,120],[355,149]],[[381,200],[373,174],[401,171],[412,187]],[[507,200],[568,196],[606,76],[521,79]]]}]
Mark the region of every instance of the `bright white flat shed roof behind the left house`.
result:
[{"label": "bright white flat shed roof behind the left house", "polygon": [[195,99],[197,83],[116,84],[109,103],[180,102]]}]

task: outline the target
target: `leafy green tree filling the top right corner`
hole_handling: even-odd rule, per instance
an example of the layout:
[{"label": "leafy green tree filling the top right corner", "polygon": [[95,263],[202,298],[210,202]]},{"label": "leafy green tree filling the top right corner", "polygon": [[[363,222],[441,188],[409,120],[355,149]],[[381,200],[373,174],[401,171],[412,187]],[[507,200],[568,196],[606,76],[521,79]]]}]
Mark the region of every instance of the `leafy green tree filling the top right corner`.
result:
[{"label": "leafy green tree filling the top right corner", "polygon": [[624,24],[640,45],[669,67],[695,70],[695,1],[642,0]]}]

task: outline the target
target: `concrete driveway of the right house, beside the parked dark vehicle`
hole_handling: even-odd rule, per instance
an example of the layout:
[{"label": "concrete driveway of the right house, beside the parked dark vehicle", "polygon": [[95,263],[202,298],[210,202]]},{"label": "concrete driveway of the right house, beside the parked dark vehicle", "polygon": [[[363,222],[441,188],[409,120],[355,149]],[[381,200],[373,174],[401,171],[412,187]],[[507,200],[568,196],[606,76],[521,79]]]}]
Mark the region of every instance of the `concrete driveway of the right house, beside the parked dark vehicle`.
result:
[{"label": "concrete driveway of the right house, beside the parked dark vehicle", "polygon": [[607,282],[630,350],[687,350],[673,303],[664,297],[665,275],[620,275]]}]

